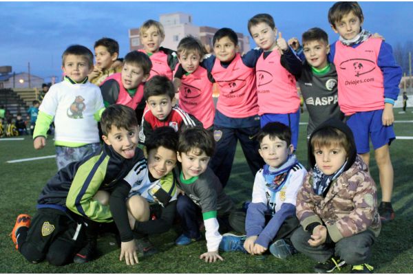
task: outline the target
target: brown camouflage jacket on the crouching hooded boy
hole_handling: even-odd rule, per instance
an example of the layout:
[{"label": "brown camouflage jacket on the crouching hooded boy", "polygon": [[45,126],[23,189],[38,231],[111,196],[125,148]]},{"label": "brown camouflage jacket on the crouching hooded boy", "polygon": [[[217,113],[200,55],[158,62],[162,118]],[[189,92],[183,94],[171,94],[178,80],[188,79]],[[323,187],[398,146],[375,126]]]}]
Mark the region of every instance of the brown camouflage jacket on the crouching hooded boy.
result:
[{"label": "brown camouflage jacket on the crouching hooded boy", "polygon": [[331,182],[326,197],[315,195],[311,170],[298,191],[297,217],[303,228],[324,223],[335,243],[365,230],[379,236],[377,188],[361,157],[357,156],[354,164]]}]

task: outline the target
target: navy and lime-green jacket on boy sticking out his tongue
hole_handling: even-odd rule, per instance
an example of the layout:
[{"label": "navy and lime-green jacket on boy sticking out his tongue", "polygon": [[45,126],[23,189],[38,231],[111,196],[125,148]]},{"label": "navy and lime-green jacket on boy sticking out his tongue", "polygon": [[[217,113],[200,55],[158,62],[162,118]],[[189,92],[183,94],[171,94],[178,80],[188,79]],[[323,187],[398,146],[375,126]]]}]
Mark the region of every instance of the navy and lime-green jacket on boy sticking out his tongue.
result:
[{"label": "navy and lime-green jacket on boy sticking out his tongue", "polygon": [[125,159],[112,146],[103,144],[103,149],[79,162],[72,162],[61,168],[47,181],[37,201],[37,208],[67,208],[84,217],[98,222],[112,221],[109,206],[102,206],[92,199],[97,190],[111,192],[118,179],[129,173],[143,153],[136,148],[131,159]]}]

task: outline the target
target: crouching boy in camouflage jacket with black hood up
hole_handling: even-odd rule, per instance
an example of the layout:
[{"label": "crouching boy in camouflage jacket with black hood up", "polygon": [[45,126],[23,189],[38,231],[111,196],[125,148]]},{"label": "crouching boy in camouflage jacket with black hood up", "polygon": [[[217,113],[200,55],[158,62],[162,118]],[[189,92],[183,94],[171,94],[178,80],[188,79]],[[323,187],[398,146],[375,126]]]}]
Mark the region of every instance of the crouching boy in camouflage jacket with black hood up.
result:
[{"label": "crouching boy in camouflage jacket with black hood up", "polygon": [[376,184],[357,155],[352,131],[332,118],[313,131],[308,142],[313,169],[297,195],[301,226],[291,241],[318,261],[315,272],[332,272],[346,263],[352,272],[370,273],[366,262],[379,236]]}]

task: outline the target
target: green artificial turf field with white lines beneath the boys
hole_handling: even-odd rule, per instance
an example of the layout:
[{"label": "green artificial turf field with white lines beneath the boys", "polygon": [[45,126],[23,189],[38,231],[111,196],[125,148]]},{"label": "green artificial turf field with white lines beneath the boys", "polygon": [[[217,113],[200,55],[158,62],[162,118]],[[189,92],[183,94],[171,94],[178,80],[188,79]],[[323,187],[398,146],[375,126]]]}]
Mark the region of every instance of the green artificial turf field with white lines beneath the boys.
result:
[{"label": "green artificial turf field with white lines beneath the boys", "polygon": [[[385,224],[372,251],[370,264],[375,273],[413,272],[413,113],[394,111],[394,129],[399,138],[390,147],[394,166],[393,208],[396,219]],[[301,117],[306,122],[307,113]],[[297,149],[298,159],[306,166],[306,124],[300,126]],[[176,230],[167,234],[151,236],[151,241],[159,250],[158,254],[140,258],[140,263],[127,266],[118,260],[120,250],[113,245],[112,235],[103,236],[98,241],[100,256],[86,264],[70,264],[53,267],[48,263],[31,264],[26,261],[8,234],[14,226],[18,214],[36,212],[36,199],[46,181],[56,173],[54,158],[28,162],[8,163],[10,160],[54,155],[52,138],[42,151],[35,151],[30,137],[24,140],[0,139],[0,272],[1,273],[313,273],[313,261],[302,254],[296,254],[287,261],[276,259],[271,254],[251,256],[241,252],[222,253],[224,261],[204,263],[199,259],[206,252],[205,241],[177,247],[173,241],[178,236]],[[410,137],[410,139],[409,139]],[[374,180],[379,184],[377,166],[372,157],[370,164]],[[226,192],[238,206],[251,199],[253,175],[245,163],[240,148],[237,150]],[[379,188],[379,186],[378,186]],[[379,188],[379,199],[381,196]],[[349,273],[344,267],[342,273]]]}]

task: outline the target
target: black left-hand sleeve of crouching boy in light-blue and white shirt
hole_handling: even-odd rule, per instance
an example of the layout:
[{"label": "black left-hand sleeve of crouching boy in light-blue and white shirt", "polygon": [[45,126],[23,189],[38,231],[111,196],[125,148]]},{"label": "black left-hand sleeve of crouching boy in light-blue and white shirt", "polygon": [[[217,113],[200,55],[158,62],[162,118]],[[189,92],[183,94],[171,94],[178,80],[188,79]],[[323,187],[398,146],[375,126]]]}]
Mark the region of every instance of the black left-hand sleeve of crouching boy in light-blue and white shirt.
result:
[{"label": "black left-hand sleeve of crouching boy in light-blue and white shirt", "polygon": [[112,212],[112,217],[116,223],[120,234],[120,241],[132,241],[134,234],[132,233],[127,217],[126,198],[129,195],[131,186],[125,181],[119,181],[116,184],[112,194],[109,197],[109,208]]}]

